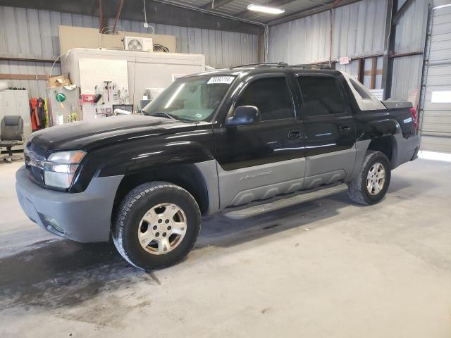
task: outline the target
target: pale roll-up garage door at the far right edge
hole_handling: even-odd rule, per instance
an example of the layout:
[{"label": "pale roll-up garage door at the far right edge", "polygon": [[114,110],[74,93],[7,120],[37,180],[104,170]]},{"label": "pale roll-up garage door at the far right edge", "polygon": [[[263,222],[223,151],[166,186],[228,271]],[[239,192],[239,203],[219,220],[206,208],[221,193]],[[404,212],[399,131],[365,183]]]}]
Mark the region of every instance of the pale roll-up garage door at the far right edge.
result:
[{"label": "pale roll-up garage door at the far right edge", "polygon": [[451,153],[451,1],[434,0],[421,100],[421,149]]}]

